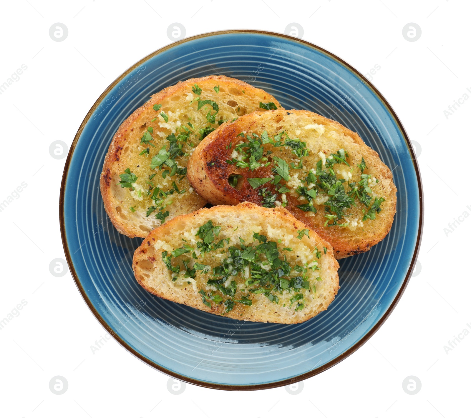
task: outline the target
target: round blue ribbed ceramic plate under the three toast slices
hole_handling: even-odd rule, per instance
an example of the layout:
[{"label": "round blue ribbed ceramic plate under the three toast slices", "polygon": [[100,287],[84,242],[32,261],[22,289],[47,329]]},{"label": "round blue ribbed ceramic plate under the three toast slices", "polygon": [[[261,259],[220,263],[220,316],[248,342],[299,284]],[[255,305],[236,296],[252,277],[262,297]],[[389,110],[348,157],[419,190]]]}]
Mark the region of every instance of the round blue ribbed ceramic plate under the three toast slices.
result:
[{"label": "round blue ribbed ceramic plate under the three toast slices", "polygon": [[[180,80],[224,74],[358,132],[392,170],[398,212],[390,233],[340,262],[341,288],[327,311],[296,325],[235,321],[163,300],[131,270],[141,239],[118,233],[99,177],[110,141],[148,97]],[[146,56],[98,98],[64,170],[60,222],[73,278],[98,321],[132,354],[187,382],[220,389],[283,386],[332,367],[364,344],[398,302],[422,233],[422,188],[414,151],[381,94],[329,52],[288,36],[214,32]]]}]

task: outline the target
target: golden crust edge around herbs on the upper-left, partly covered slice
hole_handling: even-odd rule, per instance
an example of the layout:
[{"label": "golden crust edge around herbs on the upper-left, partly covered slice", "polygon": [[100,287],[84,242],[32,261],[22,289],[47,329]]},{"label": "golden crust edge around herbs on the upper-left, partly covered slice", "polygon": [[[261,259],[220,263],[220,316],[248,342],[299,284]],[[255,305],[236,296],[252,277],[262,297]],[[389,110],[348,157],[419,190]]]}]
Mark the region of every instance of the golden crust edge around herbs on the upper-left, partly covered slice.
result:
[{"label": "golden crust edge around herbs on the upper-left, partly covered slice", "polygon": [[[151,217],[146,217],[145,209],[144,212],[142,212],[142,210],[132,212],[127,207],[129,205],[126,206],[123,204],[126,198],[124,193],[128,193],[129,189],[121,189],[116,185],[120,181],[119,174],[122,174],[124,169],[131,167],[131,170],[133,170],[131,163],[133,161],[132,158],[135,158],[131,158],[130,153],[127,153],[127,150],[129,147],[131,147],[131,149],[134,148],[134,150],[136,148],[140,150],[139,140],[136,139],[137,132],[139,129],[142,131],[142,126],[144,126],[143,123],[147,123],[147,126],[149,126],[149,121],[152,119],[152,117],[158,116],[158,113],[152,110],[154,104],[160,104],[165,100],[171,101],[171,99],[175,98],[176,96],[183,96],[187,94],[188,91],[191,92],[191,86],[194,84],[198,84],[200,87],[211,86],[209,88],[212,88],[213,85],[219,85],[221,87],[221,91],[224,88],[227,91],[231,91],[231,89],[233,89],[235,94],[238,95],[237,97],[240,97],[239,103],[245,103],[244,100],[247,101],[250,97],[252,98],[253,102],[257,103],[257,106],[259,100],[261,102],[274,102],[277,106],[280,106],[278,101],[273,96],[259,88],[252,87],[244,81],[222,75],[212,75],[180,81],[174,86],[164,88],[160,92],[151,96],[151,98],[144,105],[136,109],[122,123],[114,135],[113,140],[111,141],[111,144],[108,148],[108,152],[106,153],[103,170],[100,176],[100,190],[106,213],[110,217],[114,227],[120,233],[123,233],[131,238],[146,237],[146,235],[154,227],[161,224],[161,221],[155,219],[153,215],[151,215]],[[244,91],[244,94],[242,91]],[[184,99],[180,99],[180,101],[184,102]],[[247,105],[247,107],[250,106]],[[244,108],[244,111],[246,112],[252,112],[253,110],[255,110],[255,107],[247,109]],[[152,117],[149,116],[149,114],[152,114]],[[237,114],[235,114],[235,116],[237,116]],[[185,121],[183,121],[182,124],[184,122]],[[165,136],[171,133],[171,130],[168,129],[162,129],[162,131],[165,133]],[[139,134],[139,136],[140,135],[142,135],[142,132]],[[132,139],[130,137],[132,137]],[[157,153],[162,145],[169,144],[168,141],[162,140],[155,135],[154,142],[156,147],[151,147],[151,152],[154,153]],[[181,188],[182,187],[180,187],[180,189]],[[202,208],[206,204],[206,201],[196,193],[191,195],[190,198],[191,199],[180,199],[178,203],[173,203],[173,205],[167,207],[167,210],[170,211],[170,216],[167,217],[166,220],[168,221],[174,216],[189,213],[193,210]],[[151,206],[151,204],[152,203],[149,203],[147,206]]]}]

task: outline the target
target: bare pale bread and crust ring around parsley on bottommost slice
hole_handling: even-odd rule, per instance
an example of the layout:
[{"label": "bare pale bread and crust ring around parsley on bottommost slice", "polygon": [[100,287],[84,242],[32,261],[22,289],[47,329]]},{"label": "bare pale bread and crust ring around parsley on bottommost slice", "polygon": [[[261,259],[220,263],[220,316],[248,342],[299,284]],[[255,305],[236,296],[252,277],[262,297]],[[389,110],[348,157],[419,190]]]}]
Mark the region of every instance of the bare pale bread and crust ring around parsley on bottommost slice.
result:
[{"label": "bare pale bread and crust ring around parsley on bottommost slice", "polygon": [[[288,237],[287,239],[291,240],[290,242],[295,241],[293,254],[296,254],[297,250],[299,252],[301,250],[311,252],[316,251],[316,247],[321,249],[325,247],[326,254],[322,252],[319,259],[322,287],[320,291],[318,290],[315,293],[317,299],[312,302],[305,302],[306,307],[296,312],[294,309],[288,309],[288,307],[281,306],[281,304],[276,305],[270,302],[263,295],[252,293],[252,306],[237,304],[232,311],[225,314],[224,305],[211,304],[211,307],[204,305],[201,295],[191,285],[176,287],[171,280],[166,265],[162,261],[164,245],[167,245],[167,242],[171,241],[173,237],[177,237],[176,241],[173,242],[179,242],[178,246],[181,246],[179,240],[184,232],[197,228],[209,219],[213,221],[214,225],[223,225],[219,237],[231,238],[229,245],[235,245],[236,242],[239,242],[238,234],[241,229],[238,229],[239,233],[233,233],[232,231],[235,225],[242,225],[241,220],[243,220],[243,225],[247,224],[247,231],[252,231],[255,226],[261,228],[260,232],[263,232],[264,228],[280,228],[285,234],[283,236]],[[304,322],[327,309],[339,289],[339,276],[337,273],[339,264],[333,256],[332,246],[320,238],[313,230],[309,230],[310,238],[307,235],[299,241],[298,238],[293,238],[299,230],[306,228],[306,225],[293,217],[284,208],[267,209],[244,202],[237,206],[214,206],[210,209],[200,209],[188,215],[175,217],[149,233],[141,246],[136,249],[132,267],[136,280],[144,289],[173,302],[244,321],[286,324]],[[224,235],[225,230],[229,231],[228,235]],[[250,233],[252,234],[252,232]],[[295,247],[295,245],[298,247]],[[174,249],[174,246],[171,245],[169,250],[172,249]]]}]

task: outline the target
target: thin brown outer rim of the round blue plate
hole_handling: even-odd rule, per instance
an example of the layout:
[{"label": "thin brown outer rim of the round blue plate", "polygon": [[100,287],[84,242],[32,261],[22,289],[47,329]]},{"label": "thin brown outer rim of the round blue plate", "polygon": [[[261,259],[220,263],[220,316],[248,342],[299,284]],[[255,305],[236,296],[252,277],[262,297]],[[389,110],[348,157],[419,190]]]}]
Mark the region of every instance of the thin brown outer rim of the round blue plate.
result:
[{"label": "thin brown outer rim of the round blue plate", "polygon": [[[171,370],[165,369],[161,365],[147,359],[144,355],[138,353],[134,348],[132,348],[124,339],[116,335],[114,330],[108,326],[106,321],[103,319],[103,317],[98,313],[98,311],[95,309],[93,303],[91,302],[90,298],[88,297],[87,293],[83,289],[83,286],[81,285],[81,281],[78,277],[77,272],[75,271],[75,267],[72,262],[72,257],[70,254],[68,242],[67,242],[67,236],[65,232],[65,218],[64,218],[64,204],[65,204],[65,186],[66,186],[66,180],[67,180],[67,175],[69,173],[70,169],[70,162],[72,160],[72,155],[73,152],[75,151],[75,147],[77,145],[77,142],[81,136],[81,133],[85,127],[85,125],[88,123],[90,117],[93,115],[93,113],[97,110],[97,107],[103,99],[108,95],[108,93],[118,84],[119,81],[124,79],[127,75],[130,74],[130,72],[134,71],[136,68],[138,68],[141,64],[144,62],[148,61],[152,57],[161,54],[164,51],[167,51],[168,49],[174,48],[175,46],[181,45],[183,43],[192,41],[192,40],[197,40],[197,39],[203,39],[203,38],[208,38],[211,36],[218,36],[218,35],[227,35],[227,34],[238,34],[238,33],[252,33],[252,34],[262,34],[262,35],[267,35],[271,37],[278,37],[278,38],[283,38],[291,41],[298,42],[300,44],[303,44],[305,46],[308,46],[309,48],[315,49],[317,51],[322,52],[326,56],[329,56],[333,60],[339,62],[341,65],[347,67],[349,71],[351,71],[353,74],[355,74],[358,78],[360,78],[369,88],[371,88],[374,92],[374,94],[381,100],[382,104],[385,106],[387,111],[390,113],[390,115],[393,117],[394,121],[396,122],[399,130],[401,131],[401,134],[403,135],[404,139],[406,140],[406,145],[409,150],[409,153],[411,155],[411,159],[414,164],[414,169],[415,169],[415,174],[417,177],[417,186],[418,186],[418,194],[419,194],[419,225],[418,225],[418,233],[417,233],[417,239],[415,242],[415,247],[414,247],[414,253],[412,256],[412,260],[409,265],[409,269],[407,270],[406,277],[404,282],[402,283],[398,294],[394,298],[394,300],[391,302],[390,306],[386,310],[386,312],[382,315],[382,317],[374,324],[371,330],[369,330],[363,338],[361,338],[357,343],[355,343],[353,346],[351,346],[347,351],[339,355],[338,357],[335,357],[333,360],[330,362],[324,364],[323,366],[315,369],[315,370],[310,370],[306,373],[300,374],[294,378],[288,378],[284,380],[280,380],[277,382],[271,382],[271,383],[261,383],[261,384],[256,384],[256,385],[222,385],[218,383],[210,383],[210,382],[204,382],[202,380],[196,380],[193,378],[189,378],[186,376],[182,376],[179,373],[175,373]],[[95,103],[92,105],[88,113],[86,114],[85,118],[80,124],[79,129],[77,130],[77,133],[75,134],[75,137],[73,138],[73,142],[70,146],[69,152],[67,154],[67,159],[65,160],[65,166],[64,166],[64,171],[62,174],[62,180],[61,180],[61,186],[60,186],[60,195],[59,195],[59,223],[60,223],[60,232],[61,232],[61,239],[62,239],[62,245],[64,247],[64,252],[65,252],[65,258],[67,260],[67,264],[69,266],[69,270],[72,274],[73,281],[75,282],[75,285],[77,286],[77,289],[79,290],[83,300],[85,303],[88,305],[90,311],[92,314],[95,316],[97,321],[105,328],[105,330],[117,341],[121,346],[123,346],[128,352],[133,354],[135,357],[137,357],[139,360],[142,362],[146,363],[147,365],[151,366],[152,368],[159,370],[163,374],[170,376],[172,378],[177,378],[180,381],[190,383],[192,385],[196,386],[202,386],[210,389],[220,389],[220,390],[233,390],[233,391],[244,391],[244,390],[262,390],[262,389],[271,389],[275,387],[280,387],[280,386],[287,386],[287,385],[292,385],[294,383],[300,382],[301,380],[305,380],[307,378],[311,378],[313,376],[316,376],[319,373],[322,373],[325,370],[330,369],[334,365],[340,363],[341,361],[345,360],[349,355],[353,354],[355,351],[357,351],[361,346],[363,346],[371,337],[373,337],[374,333],[381,328],[383,323],[388,319],[389,315],[391,312],[394,310],[396,305],[399,302],[399,299],[402,297],[406,286],[411,278],[411,275],[414,271],[414,266],[418,258],[418,253],[420,249],[420,245],[422,242],[422,233],[423,233],[423,191],[422,191],[422,177],[420,174],[420,169],[419,165],[417,163],[417,157],[414,152],[414,147],[411,144],[411,141],[406,133],[406,129],[402,125],[401,121],[398,118],[398,115],[396,112],[394,112],[393,108],[391,105],[388,103],[386,98],[380,93],[380,91],[374,87],[374,85],[360,72],[358,72],[353,66],[348,64],[346,61],[343,59],[339,58],[338,56],[334,55],[333,53],[327,51],[324,48],[321,48],[311,42],[308,42],[306,40],[302,40],[299,38],[295,38],[283,33],[277,33],[277,32],[269,32],[269,31],[259,31],[259,30],[252,30],[252,29],[234,29],[234,30],[226,30],[226,31],[215,31],[215,32],[205,32],[201,33],[195,36],[191,36],[176,42],[172,42],[162,48],[159,48],[155,50],[154,52],[151,52],[144,58],[140,59],[138,62],[135,64],[131,65],[126,71],[122,72],[106,89],[103,91],[103,93],[97,98]]]}]

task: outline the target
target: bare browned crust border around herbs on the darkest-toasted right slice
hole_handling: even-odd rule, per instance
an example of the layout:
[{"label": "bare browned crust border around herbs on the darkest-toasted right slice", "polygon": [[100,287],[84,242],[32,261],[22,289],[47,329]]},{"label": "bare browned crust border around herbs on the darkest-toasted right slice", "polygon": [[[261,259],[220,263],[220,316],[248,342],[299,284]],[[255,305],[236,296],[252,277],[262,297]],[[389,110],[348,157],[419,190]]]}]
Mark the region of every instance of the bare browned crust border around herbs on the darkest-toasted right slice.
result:
[{"label": "bare browned crust border around herbs on the darkest-toasted right slice", "polygon": [[[295,119],[299,122],[292,122]],[[273,174],[270,167],[250,171],[248,168],[240,169],[236,168],[235,165],[229,165],[226,160],[230,159],[231,149],[234,149],[233,146],[240,140],[240,137],[237,137],[237,135],[241,132],[257,132],[260,135],[261,131],[268,130],[270,132],[271,129],[273,133],[282,128],[284,129],[285,124],[288,122],[291,124],[291,127],[293,123],[300,124],[299,126],[296,125],[299,131],[306,127],[305,124],[318,124],[325,127],[325,129],[329,129],[329,132],[335,132],[335,138],[337,139],[333,139],[330,145],[326,145],[326,139],[323,138],[324,142],[320,145],[320,150],[324,150],[325,154],[329,155],[331,152],[335,153],[338,149],[344,147],[345,151],[359,156],[359,161],[357,160],[356,162],[360,162],[361,156],[363,156],[368,168],[365,173],[373,173],[381,182],[378,189],[383,193],[381,197],[386,199],[381,205],[382,211],[378,213],[375,220],[366,221],[365,228],[357,228],[355,231],[346,227],[324,226],[325,212],[323,205],[316,205],[317,213],[312,216],[312,213],[308,212],[307,214],[296,207],[296,205],[300,204],[296,200],[297,195],[293,197],[286,193],[289,202],[287,209],[296,218],[314,229],[322,238],[329,241],[333,246],[337,259],[368,251],[389,233],[394,220],[397,189],[392,180],[392,173],[380,160],[378,153],[365,145],[357,133],[352,132],[336,121],[331,121],[316,113],[304,110],[276,110],[263,114],[253,112],[250,115],[239,117],[232,123],[227,122],[217,132],[208,135],[196,147],[188,162],[187,177],[190,184],[193,185],[197,193],[213,204],[235,205],[241,201],[251,201],[260,205],[262,197],[259,196],[258,189],[254,190],[246,179],[250,177],[269,177]],[[303,124],[305,125],[304,127],[302,126]],[[274,127],[277,128],[275,129]],[[293,129],[290,137],[296,136]],[[317,142],[320,141],[318,138],[321,136],[313,137],[307,146],[314,149],[317,146]],[[304,141],[306,138],[302,140]],[[310,153],[313,154],[312,152]],[[314,150],[314,154],[316,153],[317,150]],[[317,160],[319,160],[319,157],[317,157]],[[315,169],[315,165],[310,167]],[[237,188],[229,185],[227,181],[231,174],[243,176],[244,181],[242,184],[239,182]],[[274,186],[267,184],[263,185],[263,187],[268,187],[270,190],[273,189],[272,192],[275,193]],[[366,225],[368,222],[370,224]],[[374,223],[374,227],[371,227],[373,225],[371,223]]]}]

